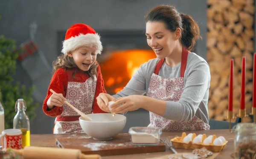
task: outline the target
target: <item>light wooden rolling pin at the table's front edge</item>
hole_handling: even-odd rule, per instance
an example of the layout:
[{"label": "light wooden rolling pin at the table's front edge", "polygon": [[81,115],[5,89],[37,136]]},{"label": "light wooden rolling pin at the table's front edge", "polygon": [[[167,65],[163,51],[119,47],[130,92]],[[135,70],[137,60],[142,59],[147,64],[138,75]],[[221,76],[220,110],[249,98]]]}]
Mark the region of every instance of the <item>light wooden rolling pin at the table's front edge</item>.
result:
[{"label": "light wooden rolling pin at the table's front edge", "polygon": [[24,159],[101,159],[100,155],[85,155],[81,150],[26,146],[23,150],[12,149]]}]

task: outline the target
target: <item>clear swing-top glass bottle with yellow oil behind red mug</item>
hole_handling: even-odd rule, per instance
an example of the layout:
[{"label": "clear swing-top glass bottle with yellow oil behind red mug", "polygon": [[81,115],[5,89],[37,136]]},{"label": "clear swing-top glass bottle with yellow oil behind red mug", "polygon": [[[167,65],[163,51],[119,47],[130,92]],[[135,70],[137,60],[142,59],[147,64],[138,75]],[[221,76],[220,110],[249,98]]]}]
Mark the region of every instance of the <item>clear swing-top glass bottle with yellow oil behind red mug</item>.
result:
[{"label": "clear swing-top glass bottle with yellow oil behind red mug", "polygon": [[26,115],[26,102],[23,99],[18,99],[15,104],[17,114],[13,119],[13,128],[22,131],[22,147],[30,146],[30,124],[29,118]]}]

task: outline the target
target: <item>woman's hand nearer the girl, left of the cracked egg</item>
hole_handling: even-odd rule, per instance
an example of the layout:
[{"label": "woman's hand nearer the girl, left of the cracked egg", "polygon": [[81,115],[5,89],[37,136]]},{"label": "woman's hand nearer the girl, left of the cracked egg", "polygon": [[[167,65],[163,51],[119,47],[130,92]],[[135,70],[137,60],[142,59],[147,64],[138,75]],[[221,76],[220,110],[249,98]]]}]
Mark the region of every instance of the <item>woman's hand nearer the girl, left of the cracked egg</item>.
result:
[{"label": "woman's hand nearer the girl, left of the cracked egg", "polygon": [[108,108],[108,102],[115,100],[110,94],[100,93],[99,96],[96,98],[97,104],[102,111],[111,112]]}]

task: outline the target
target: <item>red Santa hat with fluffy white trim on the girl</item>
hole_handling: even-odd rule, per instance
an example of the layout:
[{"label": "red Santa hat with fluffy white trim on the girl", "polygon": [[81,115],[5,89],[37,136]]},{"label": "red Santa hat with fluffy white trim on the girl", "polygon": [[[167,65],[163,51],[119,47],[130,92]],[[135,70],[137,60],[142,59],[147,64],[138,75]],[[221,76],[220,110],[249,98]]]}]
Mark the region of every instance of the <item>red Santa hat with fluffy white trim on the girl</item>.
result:
[{"label": "red Santa hat with fluffy white trim on the girl", "polygon": [[96,46],[96,54],[101,54],[100,36],[86,24],[74,24],[67,29],[61,52],[67,54],[81,46]]}]

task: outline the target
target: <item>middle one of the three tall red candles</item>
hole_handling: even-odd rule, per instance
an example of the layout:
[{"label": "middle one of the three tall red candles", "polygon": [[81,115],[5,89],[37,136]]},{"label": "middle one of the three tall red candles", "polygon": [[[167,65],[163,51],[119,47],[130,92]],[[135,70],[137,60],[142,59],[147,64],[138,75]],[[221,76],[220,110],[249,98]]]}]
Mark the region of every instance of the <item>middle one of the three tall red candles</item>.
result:
[{"label": "middle one of the three tall red candles", "polygon": [[244,109],[245,108],[245,57],[243,56],[243,60],[242,60],[242,80],[241,80],[241,103],[240,103],[240,109]]}]

